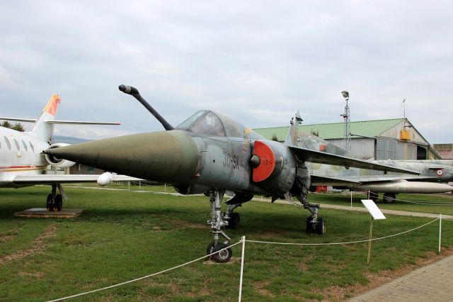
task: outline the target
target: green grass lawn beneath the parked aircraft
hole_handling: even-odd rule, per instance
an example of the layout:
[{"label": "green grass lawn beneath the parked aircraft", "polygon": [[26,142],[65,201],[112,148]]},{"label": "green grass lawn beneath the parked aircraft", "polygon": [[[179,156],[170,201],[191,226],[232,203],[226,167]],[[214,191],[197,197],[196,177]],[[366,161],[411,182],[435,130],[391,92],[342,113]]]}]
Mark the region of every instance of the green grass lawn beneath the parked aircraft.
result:
[{"label": "green grass lawn beneath the parked aircraft", "polygon": [[[204,196],[68,188],[70,200],[64,206],[84,208],[86,213],[79,218],[13,216],[26,208],[44,207],[49,191],[44,186],[0,191],[2,301],[47,301],[128,281],[202,257],[212,241],[206,224],[210,204]],[[327,195],[313,194],[310,201],[325,202],[323,196]],[[335,202],[348,205],[348,197],[341,198],[345,201]],[[428,206],[423,208],[428,212]],[[233,243],[243,235],[248,240],[345,242],[367,239],[369,232],[367,213],[321,209],[327,233],[319,236],[305,233],[308,211],[294,206],[251,201],[237,212],[241,229],[226,230]],[[432,220],[387,218],[374,223],[374,237]],[[243,301],[344,300],[374,276],[435,257],[438,228],[436,222],[373,242],[370,265],[366,263],[367,243],[304,247],[248,242]],[[442,238],[443,249],[452,250],[453,222],[442,223]],[[233,257],[240,253],[241,245],[233,248]],[[240,262],[195,262],[74,301],[237,301],[239,272]]]}]

